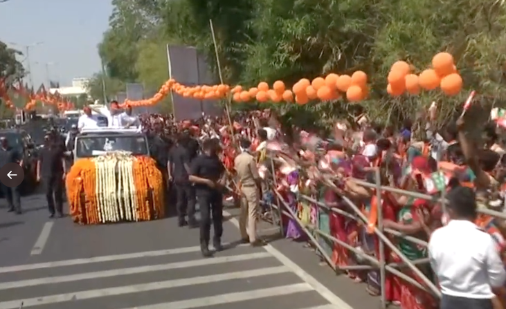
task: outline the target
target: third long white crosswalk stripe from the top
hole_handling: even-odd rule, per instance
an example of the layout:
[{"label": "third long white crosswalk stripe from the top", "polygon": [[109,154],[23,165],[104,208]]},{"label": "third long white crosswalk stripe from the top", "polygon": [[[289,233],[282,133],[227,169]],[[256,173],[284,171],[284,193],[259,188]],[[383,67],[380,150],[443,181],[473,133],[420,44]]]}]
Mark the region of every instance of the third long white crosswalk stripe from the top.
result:
[{"label": "third long white crosswalk stripe from the top", "polygon": [[[98,290],[87,290],[70,292],[65,294],[48,295],[43,297],[33,297],[23,300],[23,308],[40,305],[50,305],[53,303],[63,303],[65,301],[80,301],[82,299],[96,299],[100,297],[110,297],[125,295],[130,293],[147,292],[154,290],[163,290],[167,288],[179,288],[183,286],[206,284],[219,281],[233,280],[233,279],[247,279],[252,277],[269,276],[272,274],[282,274],[291,272],[286,266],[276,266],[271,268],[260,268],[257,270],[246,270],[241,272],[227,272],[225,274],[213,274],[210,276],[192,277],[186,279],[176,279],[160,282],[151,282],[135,285],[127,285],[114,288],[101,288]],[[20,301],[2,301],[0,302],[0,309],[17,309],[19,308]],[[171,308],[172,309],[172,308]]]}]

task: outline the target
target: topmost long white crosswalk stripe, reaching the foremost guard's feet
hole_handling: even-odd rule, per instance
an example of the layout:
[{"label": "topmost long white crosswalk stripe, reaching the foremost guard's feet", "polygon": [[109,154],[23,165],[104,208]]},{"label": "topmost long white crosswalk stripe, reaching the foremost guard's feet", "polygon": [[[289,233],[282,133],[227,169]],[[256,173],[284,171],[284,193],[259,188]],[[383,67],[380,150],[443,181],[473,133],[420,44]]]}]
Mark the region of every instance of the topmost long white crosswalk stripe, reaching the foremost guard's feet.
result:
[{"label": "topmost long white crosswalk stripe, reaching the foremost guard's feet", "polygon": [[[224,246],[228,245],[227,243]],[[241,245],[243,246],[243,245]],[[135,252],[135,253],[127,253],[127,254],[114,254],[107,256],[95,256],[87,259],[73,259],[73,260],[65,260],[65,261],[55,261],[55,262],[45,262],[45,263],[34,263],[34,264],[25,264],[25,265],[15,265],[15,266],[6,266],[0,268],[0,274],[5,272],[22,272],[25,270],[38,270],[42,268],[57,268],[63,266],[75,266],[75,265],[83,265],[89,263],[103,263],[103,262],[111,262],[111,261],[123,261],[129,259],[140,259],[145,257],[153,257],[153,256],[163,256],[170,254],[183,254],[183,253],[191,253],[191,252],[199,252],[200,246],[193,247],[181,247],[176,249],[168,249],[168,250],[156,250],[156,251],[147,251],[147,252]]]}]

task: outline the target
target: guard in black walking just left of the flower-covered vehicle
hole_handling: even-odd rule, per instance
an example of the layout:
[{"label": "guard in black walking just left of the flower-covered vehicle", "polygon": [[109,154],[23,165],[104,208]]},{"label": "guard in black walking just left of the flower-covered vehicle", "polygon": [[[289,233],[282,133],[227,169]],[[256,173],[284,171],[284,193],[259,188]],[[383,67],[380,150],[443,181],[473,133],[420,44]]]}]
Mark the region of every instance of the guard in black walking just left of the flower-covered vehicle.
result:
[{"label": "guard in black walking just left of the flower-covered vehicle", "polygon": [[55,212],[60,218],[63,217],[64,151],[54,135],[44,136],[44,147],[39,152],[37,162],[37,181],[42,180],[44,185],[50,218],[55,216]]}]

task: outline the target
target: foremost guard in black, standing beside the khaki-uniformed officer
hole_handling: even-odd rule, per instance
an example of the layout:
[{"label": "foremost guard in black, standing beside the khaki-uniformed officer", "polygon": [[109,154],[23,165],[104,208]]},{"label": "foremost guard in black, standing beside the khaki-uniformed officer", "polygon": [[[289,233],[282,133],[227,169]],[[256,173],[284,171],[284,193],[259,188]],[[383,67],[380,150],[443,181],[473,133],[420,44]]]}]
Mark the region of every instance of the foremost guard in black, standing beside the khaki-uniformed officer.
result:
[{"label": "foremost guard in black, standing beside the khaki-uniformed officer", "polygon": [[216,251],[223,250],[223,185],[225,167],[218,158],[219,141],[205,140],[202,153],[192,161],[190,182],[195,183],[197,203],[200,207],[200,248],[204,257],[212,256],[209,251],[211,215],[213,216],[213,246]]}]

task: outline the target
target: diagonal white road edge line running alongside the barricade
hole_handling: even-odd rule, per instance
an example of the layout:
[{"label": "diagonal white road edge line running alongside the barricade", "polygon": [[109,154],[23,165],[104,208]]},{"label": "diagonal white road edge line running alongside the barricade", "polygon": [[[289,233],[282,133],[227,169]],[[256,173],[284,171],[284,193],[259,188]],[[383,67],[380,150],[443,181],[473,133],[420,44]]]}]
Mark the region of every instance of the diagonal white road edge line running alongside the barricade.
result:
[{"label": "diagonal white road edge line running alongside the barricade", "polygon": [[[229,212],[224,211],[223,213],[226,214],[226,216],[232,216]],[[237,221],[236,218],[231,218],[229,221],[233,225],[235,225],[237,229],[239,229],[239,221]],[[294,274],[296,274],[300,279],[302,279],[302,281],[311,285],[311,287],[314,288],[314,290],[316,290],[318,294],[320,294],[323,298],[327,299],[327,301],[329,301],[329,303],[332,303],[336,308],[353,309],[352,306],[343,301],[343,299],[334,294],[331,290],[329,290],[325,285],[316,280],[313,276],[305,272],[305,270],[300,268],[299,265],[293,263],[291,259],[282,254],[278,249],[276,249],[270,244],[265,245],[264,249],[270,254],[272,254],[272,256],[274,256],[276,259],[278,259],[278,261],[280,261],[283,265],[287,266],[287,268],[289,268]]]}]

